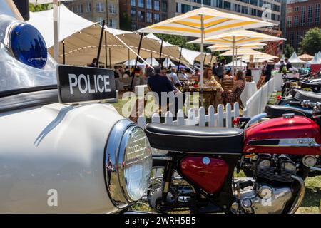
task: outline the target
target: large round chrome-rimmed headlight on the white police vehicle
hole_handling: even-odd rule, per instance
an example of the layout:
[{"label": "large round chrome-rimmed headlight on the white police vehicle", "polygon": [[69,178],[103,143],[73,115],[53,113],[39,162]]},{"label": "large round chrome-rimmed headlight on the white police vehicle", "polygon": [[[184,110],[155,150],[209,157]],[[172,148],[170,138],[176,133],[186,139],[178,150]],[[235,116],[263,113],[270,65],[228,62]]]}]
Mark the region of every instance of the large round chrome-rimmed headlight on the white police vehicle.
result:
[{"label": "large round chrome-rimmed headlight on the white police vehicle", "polygon": [[151,175],[151,147],[144,131],[128,120],[113,127],[106,147],[106,185],[116,207],[141,199]]}]

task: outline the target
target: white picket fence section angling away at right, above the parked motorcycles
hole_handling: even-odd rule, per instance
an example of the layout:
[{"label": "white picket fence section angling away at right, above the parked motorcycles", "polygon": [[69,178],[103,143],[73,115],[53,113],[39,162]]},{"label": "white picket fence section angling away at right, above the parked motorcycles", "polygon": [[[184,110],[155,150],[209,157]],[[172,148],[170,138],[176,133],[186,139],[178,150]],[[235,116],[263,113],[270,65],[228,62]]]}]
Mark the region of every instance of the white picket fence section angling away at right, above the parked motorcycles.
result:
[{"label": "white picket fence section angling away at right, above the parked motorcycles", "polygon": [[243,110],[243,116],[252,117],[262,113],[270,99],[271,93],[277,88],[275,85],[275,78],[271,78],[270,81],[265,83],[258,91],[256,91],[245,104]]}]

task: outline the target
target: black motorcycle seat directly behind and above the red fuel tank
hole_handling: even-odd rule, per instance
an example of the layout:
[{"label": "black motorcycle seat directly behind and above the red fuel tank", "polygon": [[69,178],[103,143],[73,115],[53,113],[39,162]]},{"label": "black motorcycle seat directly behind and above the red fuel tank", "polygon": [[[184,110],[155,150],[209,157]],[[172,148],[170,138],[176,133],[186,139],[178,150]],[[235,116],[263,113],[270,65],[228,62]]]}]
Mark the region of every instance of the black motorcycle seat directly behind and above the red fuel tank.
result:
[{"label": "black motorcycle seat directly behind and above the red fuel tank", "polygon": [[294,113],[295,115],[312,118],[312,110],[305,110],[294,106],[266,105],[265,113],[272,118],[282,117],[283,114],[287,113]]}]

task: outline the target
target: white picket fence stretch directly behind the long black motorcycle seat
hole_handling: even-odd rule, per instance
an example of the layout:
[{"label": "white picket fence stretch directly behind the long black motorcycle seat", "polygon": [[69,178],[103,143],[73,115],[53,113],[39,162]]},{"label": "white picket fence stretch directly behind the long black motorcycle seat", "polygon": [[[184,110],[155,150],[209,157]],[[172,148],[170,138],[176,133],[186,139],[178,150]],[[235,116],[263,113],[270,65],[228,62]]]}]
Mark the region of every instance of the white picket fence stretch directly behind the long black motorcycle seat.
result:
[{"label": "white picket fence stretch directly behind the long black motorcycle seat", "polygon": [[[210,105],[208,108],[208,115],[205,115],[205,108],[200,107],[198,109],[190,108],[188,110],[188,117],[184,117],[183,110],[178,110],[177,119],[173,120],[173,114],[168,111],[165,113],[164,123],[170,125],[198,125],[200,127],[233,127],[232,120],[240,115],[240,107],[238,103],[234,103],[233,110],[230,103],[225,105],[218,105],[217,113],[215,108]],[[161,117],[158,113],[154,113],[151,117],[152,123],[161,123]],[[145,128],[147,123],[146,117],[140,116],[137,124],[141,128]]]}]

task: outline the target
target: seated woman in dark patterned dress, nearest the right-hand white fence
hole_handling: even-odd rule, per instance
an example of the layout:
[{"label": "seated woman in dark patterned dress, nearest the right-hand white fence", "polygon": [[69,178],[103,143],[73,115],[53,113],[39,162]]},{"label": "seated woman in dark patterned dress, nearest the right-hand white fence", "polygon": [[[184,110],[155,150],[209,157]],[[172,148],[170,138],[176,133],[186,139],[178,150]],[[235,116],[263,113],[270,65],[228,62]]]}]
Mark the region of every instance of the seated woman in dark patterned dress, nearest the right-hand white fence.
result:
[{"label": "seated woman in dark patterned dress, nearest the right-hand white fence", "polygon": [[235,103],[239,102],[240,95],[243,92],[245,87],[245,77],[242,71],[238,71],[234,78],[234,85],[231,90],[224,91],[222,97],[224,103]]}]

